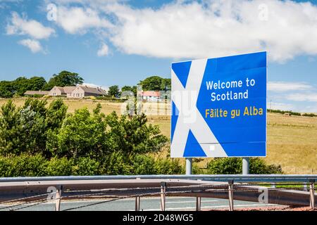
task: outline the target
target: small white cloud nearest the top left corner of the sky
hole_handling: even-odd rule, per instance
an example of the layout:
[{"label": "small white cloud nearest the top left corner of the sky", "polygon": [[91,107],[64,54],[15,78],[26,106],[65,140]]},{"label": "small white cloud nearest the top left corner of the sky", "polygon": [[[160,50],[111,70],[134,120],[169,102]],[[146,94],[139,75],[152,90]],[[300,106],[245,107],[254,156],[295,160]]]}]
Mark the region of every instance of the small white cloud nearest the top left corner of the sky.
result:
[{"label": "small white cloud nearest the top left corner of the sky", "polygon": [[21,18],[16,12],[12,13],[11,21],[6,26],[6,34],[8,35],[29,35],[33,39],[46,39],[54,32],[55,30],[51,27],[45,27],[36,20]]}]

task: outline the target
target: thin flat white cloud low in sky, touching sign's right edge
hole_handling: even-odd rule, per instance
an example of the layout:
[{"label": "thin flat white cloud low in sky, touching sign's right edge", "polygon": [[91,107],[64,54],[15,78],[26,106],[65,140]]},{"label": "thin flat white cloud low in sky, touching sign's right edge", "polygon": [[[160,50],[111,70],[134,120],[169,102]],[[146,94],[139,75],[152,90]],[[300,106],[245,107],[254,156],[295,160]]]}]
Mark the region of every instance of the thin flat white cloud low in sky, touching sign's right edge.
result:
[{"label": "thin flat white cloud low in sky, touching sign's right edge", "polygon": [[268,82],[268,91],[306,91],[313,89],[313,86],[302,82]]}]

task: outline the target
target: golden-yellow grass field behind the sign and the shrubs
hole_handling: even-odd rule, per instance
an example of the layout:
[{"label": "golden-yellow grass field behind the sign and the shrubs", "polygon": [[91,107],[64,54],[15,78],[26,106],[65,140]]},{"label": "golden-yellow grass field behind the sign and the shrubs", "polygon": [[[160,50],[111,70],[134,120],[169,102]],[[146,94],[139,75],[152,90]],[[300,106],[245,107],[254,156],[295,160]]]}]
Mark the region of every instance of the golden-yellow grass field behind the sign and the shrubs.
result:
[{"label": "golden-yellow grass field behind the sign and the shrubs", "polygon": [[[0,99],[0,105],[6,103],[7,99]],[[23,105],[25,99],[13,99],[16,105]],[[47,100],[52,101],[52,98]],[[105,114],[115,110],[120,114],[120,103],[108,101],[94,101],[90,99],[65,99],[68,112],[73,113],[76,109],[87,107],[92,110],[97,103],[101,103],[102,112]],[[159,108],[156,104],[146,103],[149,122],[158,124],[166,136],[170,136],[170,117],[156,116],[158,110],[170,111],[170,105]],[[123,109],[125,107],[123,106]],[[316,174],[317,173],[317,117],[286,116],[268,113],[268,163],[279,164],[287,174]],[[203,165],[204,162],[201,162]]]}]

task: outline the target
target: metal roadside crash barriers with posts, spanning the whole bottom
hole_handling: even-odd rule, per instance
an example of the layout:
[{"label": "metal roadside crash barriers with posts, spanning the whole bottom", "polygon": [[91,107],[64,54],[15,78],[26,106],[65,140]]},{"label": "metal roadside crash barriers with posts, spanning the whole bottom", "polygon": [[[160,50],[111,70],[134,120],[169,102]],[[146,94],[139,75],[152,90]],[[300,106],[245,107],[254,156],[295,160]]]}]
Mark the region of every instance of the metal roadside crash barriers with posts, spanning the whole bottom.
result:
[{"label": "metal roadside crash barriers with posts, spanning the whole bottom", "polygon": [[[139,210],[142,197],[160,196],[161,210],[166,210],[167,196],[228,198],[229,210],[235,200],[259,201],[280,205],[310,205],[315,208],[314,184],[317,175],[139,175],[139,176],[46,176],[0,178],[0,210],[20,210],[54,200],[60,210],[61,200],[107,198],[108,203],[135,198]],[[274,186],[272,186],[274,184]],[[307,188],[309,186],[309,188]],[[299,191],[306,188],[307,191]],[[309,190],[309,191],[308,191]],[[266,193],[267,196],[264,196]],[[109,199],[110,198],[110,199]],[[15,203],[15,205],[13,205]],[[87,207],[88,204],[80,207]],[[68,210],[76,210],[74,207]]]}]

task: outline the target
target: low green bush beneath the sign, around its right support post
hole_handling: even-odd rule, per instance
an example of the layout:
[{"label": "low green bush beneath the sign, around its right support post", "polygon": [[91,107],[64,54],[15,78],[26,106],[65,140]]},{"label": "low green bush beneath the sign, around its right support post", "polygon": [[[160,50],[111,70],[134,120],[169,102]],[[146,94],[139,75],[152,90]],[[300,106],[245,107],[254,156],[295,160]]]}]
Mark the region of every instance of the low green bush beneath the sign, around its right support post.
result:
[{"label": "low green bush beneath the sign, around its right support post", "polygon": [[[266,165],[261,158],[250,158],[250,174],[282,174],[280,165]],[[242,158],[216,158],[207,165],[207,174],[242,174]]]}]

